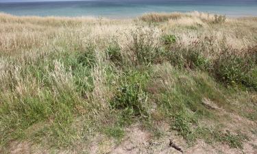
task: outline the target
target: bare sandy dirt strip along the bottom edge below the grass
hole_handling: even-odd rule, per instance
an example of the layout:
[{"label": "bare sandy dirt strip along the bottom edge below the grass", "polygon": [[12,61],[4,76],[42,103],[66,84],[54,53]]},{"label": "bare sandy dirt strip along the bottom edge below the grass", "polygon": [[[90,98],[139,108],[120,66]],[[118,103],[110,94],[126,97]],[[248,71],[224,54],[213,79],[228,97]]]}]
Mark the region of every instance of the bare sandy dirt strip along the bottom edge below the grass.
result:
[{"label": "bare sandy dirt strip along the bottom edge below the grass", "polygon": [[[89,145],[79,147],[73,151],[65,150],[51,150],[44,149],[40,146],[29,144],[29,142],[13,142],[10,153],[11,154],[23,154],[23,153],[90,153],[90,154],[170,154],[170,153],[182,153],[173,147],[169,146],[170,142],[174,142],[180,147],[183,153],[212,153],[212,154],[238,154],[249,153],[257,154],[257,140],[256,135],[249,136],[249,141],[243,143],[243,149],[230,149],[227,144],[207,144],[204,140],[197,140],[193,146],[188,146],[183,138],[175,135],[175,132],[169,132],[162,136],[162,138],[153,139],[151,133],[140,129],[138,125],[134,125],[126,129],[126,136],[123,140],[117,144],[114,140],[110,140],[106,136],[95,136]],[[90,147],[90,150],[86,147]]]}]

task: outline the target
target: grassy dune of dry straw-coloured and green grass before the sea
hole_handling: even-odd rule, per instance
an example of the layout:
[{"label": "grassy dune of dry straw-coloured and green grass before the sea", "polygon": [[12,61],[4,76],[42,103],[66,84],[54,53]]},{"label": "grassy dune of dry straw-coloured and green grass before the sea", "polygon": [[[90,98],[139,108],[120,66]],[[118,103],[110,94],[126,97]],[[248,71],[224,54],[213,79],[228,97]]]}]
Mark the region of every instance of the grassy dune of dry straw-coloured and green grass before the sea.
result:
[{"label": "grassy dune of dry straw-coloured and green grass before the sea", "polygon": [[256,90],[255,17],[0,14],[0,153],[254,153]]}]

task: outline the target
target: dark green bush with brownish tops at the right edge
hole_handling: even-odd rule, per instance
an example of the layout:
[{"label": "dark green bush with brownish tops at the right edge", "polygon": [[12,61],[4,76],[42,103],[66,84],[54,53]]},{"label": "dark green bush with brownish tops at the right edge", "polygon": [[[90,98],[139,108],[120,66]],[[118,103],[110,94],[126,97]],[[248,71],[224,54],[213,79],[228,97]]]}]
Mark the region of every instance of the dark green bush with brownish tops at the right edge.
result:
[{"label": "dark green bush with brownish tops at the right edge", "polygon": [[249,73],[256,65],[256,53],[225,50],[219,54],[213,64],[215,77],[227,85],[242,84],[253,86]]}]

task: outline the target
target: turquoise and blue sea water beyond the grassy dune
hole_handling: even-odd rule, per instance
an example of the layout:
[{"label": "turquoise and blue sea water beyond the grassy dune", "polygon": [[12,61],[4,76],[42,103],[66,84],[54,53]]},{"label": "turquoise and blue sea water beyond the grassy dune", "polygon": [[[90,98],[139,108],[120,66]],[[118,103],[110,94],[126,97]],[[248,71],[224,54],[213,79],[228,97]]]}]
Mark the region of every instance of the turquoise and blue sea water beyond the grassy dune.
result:
[{"label": "turquoise and blue sea water beyond the grassy dune", "polygon": [[19,16],[103,16],[130,18],[146,12],[209,12],[257,16],[257,0],[99,0],[3,3],[0,12]]}]

